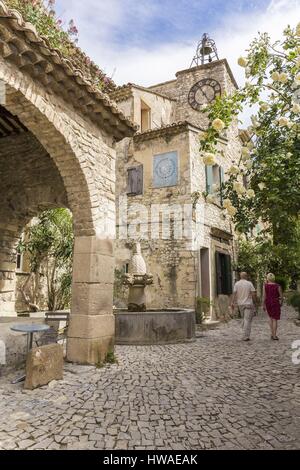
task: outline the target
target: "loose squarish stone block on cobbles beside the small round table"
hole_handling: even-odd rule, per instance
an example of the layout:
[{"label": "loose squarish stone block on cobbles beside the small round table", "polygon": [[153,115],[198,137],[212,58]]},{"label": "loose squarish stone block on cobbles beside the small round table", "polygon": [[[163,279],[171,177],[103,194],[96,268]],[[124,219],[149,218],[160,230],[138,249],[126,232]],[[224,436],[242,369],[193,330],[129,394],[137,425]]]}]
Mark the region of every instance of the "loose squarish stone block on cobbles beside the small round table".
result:
[{"label": "loose squarish stone block on cobbles beside the small round table", "polygon": [[52,380],[62,380],[63,364],[63,348],[60,344],[33,348],[27,355],[24,388],[33,390]]}]

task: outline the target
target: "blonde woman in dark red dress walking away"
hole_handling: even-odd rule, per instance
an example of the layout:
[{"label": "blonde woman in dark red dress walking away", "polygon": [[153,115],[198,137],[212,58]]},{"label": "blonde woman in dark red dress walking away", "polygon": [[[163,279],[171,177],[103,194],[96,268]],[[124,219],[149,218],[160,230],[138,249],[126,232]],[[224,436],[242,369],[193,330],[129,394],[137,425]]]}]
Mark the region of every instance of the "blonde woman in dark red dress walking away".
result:
[{"label": "blonde woman in dark red dress walking away", "polygon": [[269,273],[264,285],[263,308],[269,315],[272,340],[278,340],[277,322],[280,320],[282,301],[281,286],[275,282],[274,274]]}]

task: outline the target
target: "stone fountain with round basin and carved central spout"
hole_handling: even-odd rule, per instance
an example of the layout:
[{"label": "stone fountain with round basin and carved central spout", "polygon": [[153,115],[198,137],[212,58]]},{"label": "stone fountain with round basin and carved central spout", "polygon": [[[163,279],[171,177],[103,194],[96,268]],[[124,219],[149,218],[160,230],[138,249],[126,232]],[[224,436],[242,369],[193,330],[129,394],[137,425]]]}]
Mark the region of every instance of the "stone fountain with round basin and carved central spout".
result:
[{"label": "stone fountain with round basin and carved central spout", "polygon": [[123,276],[128,286],[128,309],[116,310],[116,344],[172,344],[195,339],[195,312],[188,309],[147,309],[146,286],[153,284],[147,273],[141,246],[136,243]]}]

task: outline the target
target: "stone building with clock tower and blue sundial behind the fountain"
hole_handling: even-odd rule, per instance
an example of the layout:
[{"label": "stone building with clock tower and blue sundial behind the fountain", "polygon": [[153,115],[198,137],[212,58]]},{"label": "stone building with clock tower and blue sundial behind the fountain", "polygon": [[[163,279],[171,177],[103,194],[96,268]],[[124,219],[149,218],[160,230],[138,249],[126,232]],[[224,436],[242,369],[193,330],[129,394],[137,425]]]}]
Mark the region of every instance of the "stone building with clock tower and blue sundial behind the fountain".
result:
[{"label": "stone building with clock tower and blue sundial behind the fountain", "polygon": [[[128,84],[113,92],[139,126],[134,137],[117,145],[116,306],[126,302],[120,279],[130,240],[138,238],[154,275],[149,307],[194,307],[201,297],[214,301],[212,313],[227,314],[234,234],[218,189],[239,158],[241,141],[234,123],[219,139],[217,164],[205,166],[199,137],[208,122],[205,105],[236,87],[227,61],[215,60],[179,71],[165,83]],[[197,208],[194,193],[201,195]]]}]

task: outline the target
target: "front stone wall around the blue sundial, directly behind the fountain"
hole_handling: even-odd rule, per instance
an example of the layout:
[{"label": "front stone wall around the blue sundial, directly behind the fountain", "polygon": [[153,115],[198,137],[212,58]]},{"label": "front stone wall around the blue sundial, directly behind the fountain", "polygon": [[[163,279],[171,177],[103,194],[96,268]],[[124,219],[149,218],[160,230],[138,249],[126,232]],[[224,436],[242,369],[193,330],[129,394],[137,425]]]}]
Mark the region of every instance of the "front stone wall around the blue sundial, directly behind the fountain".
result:
[{"label": "front stone wall around the blue sundial, directly behind the fountain", "polygon": [[[142,252],[147,267],[154,276],[154,284],[147,288],[148,306],[151,308],[162,307],[193,307],[195,292],[195,258],[190,253],[190,240],[172,238],[172,224],[178,217],[177,208],[182,209],[184,204],[191,203],[190,167],[189,167],[189,132],[183,130],[177,135],[167,139],[154,138],[142,142],[122,142],[118,145],[117,153],[117,236],[123,236],[124,240],[117,240],[116,268],[121,270],[129,262],[130,244],[124,233],[124,222],[120,217],[120,196],[126,195],[127,169],[143,164],[144,167],[144,192],[139,196],[128,196],[128,220],[132,228],[135,226],[136,215],[144,216],[142,226]],[[129,147],[129,152],[128,152]],[[124,161],[124,148],[127,149]],[[179,182],[178,185],[166,188],[153,188],[153,156],[176,150],[179,156]],[[134,210],[134,205],[142,204],[146,207],[147,217],[139,207]],[[160,239],[151,237],[150,215],[151,207],[155,204],[168,204],[175,208],[171,213],[171,237],[162,239],[160,223]],[[124,213],[121,213],[121,216]],[[182,213],[183,217],[183,213]],[[161,221],[160,221],[161,222]],[[120,225],[123,224],[123,228]],[[153,227],[153,225],[152,225]],[[139,234],[136,235],[139,237]],[[143,238],[147,237],[147,240]],[[128,234],[129,240],[131,234]],[[118,284],[115,296],[116,306],[125,306],[127,292]]]}]

